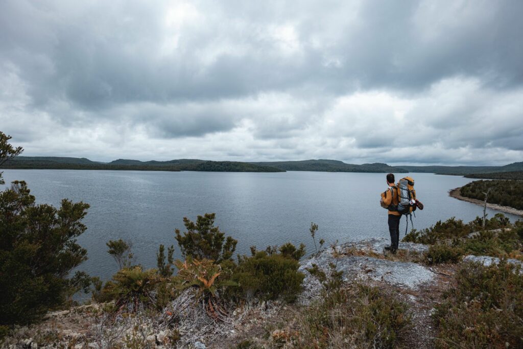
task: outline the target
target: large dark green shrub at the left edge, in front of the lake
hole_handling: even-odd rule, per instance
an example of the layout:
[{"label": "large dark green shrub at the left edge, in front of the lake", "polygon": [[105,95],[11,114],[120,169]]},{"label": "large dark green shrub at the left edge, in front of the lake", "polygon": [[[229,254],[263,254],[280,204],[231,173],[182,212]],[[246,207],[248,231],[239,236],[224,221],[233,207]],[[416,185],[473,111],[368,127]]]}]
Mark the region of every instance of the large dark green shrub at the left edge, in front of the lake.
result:
[{"label": "large dark green shrub at the left edge, in front of the lake", "polygon": [[62,200],[36,205],[25,182],[0,192],[0,324],[30,323],[64,306],[89,282],[70,272],[87,260],[76,238],[89,205]]}]

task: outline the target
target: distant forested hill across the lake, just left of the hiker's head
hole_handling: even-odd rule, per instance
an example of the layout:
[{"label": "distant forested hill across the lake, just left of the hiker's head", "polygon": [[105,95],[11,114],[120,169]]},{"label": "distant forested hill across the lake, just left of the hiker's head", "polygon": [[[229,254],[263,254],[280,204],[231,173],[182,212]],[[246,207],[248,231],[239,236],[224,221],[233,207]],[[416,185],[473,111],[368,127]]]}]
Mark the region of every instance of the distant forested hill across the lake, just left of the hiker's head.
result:
[{"label": "distant forested hill across the lake, just left of the hiker's head", "polygon": [[338,160],[303,160],[303,161],[276,161],[252,162],[259,166],[271,166],[285,171],[322,171],[322,172],[378,172],[403,173],[404,168],[393,167],[382,163],[354,165]]}]

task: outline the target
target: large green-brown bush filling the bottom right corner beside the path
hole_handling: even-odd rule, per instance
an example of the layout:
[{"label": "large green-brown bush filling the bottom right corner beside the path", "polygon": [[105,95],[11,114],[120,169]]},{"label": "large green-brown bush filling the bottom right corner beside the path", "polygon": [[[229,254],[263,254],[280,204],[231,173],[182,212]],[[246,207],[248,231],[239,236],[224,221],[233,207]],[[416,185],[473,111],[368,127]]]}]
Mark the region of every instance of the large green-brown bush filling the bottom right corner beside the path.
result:
[{"label": "large green-brown bush filling the bottom right corner beside the path", "polygon": [[463,265],[457,285],[436,307],[436,346],[523,347],[523,273],[502,260],[498,265]]}]

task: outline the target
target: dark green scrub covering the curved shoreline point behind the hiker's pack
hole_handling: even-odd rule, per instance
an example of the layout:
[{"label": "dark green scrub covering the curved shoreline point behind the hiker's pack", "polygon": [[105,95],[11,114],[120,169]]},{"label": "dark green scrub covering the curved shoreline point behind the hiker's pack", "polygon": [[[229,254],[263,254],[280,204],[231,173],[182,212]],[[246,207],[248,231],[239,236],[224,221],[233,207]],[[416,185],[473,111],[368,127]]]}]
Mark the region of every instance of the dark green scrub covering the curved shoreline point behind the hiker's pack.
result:
[{"label": "dark green scrub covering the curved shoreline point behind the hiker's pack", "polygon": [[460,189],[461,196],[478,200],[485,200],[485,193],[490,204],[523,210],[523,181],[474,181]]}]

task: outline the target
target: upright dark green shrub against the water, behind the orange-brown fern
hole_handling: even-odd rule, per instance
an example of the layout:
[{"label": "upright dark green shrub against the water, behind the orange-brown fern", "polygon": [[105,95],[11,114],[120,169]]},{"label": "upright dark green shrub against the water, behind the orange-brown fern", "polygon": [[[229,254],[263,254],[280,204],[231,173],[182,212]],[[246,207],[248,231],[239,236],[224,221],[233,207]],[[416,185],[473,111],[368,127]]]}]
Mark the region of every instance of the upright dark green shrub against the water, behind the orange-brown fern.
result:
[{"label": "upright dark green shrub against the water, behind the orange-brown fern", "polygon": [[192,256],[197,260],[207,259],[216,263],[231,259],[238,241],[231,237],[225,239],[225,233],[219,227],[214,227],[214,217],[215,213],[206,213],[198,216],[196,223],[184,217],[187,231],[183,234],[178,229],[175,231],[176,241],[184,257]]}]

